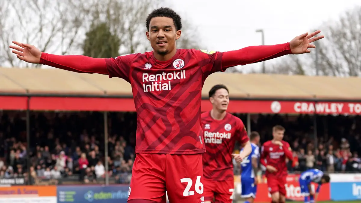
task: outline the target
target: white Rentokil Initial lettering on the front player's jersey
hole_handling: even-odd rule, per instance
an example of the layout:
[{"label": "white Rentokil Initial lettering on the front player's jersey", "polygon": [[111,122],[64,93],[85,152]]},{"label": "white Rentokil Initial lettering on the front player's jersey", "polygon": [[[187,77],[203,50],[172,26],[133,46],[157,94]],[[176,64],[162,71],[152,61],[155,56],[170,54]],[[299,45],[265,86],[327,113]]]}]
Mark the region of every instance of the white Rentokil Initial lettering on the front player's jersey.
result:
[{"label": "white Rentokil Initial lettering on the front player's jersey", "polygon": [[143,90],[144,92],[171,90],[170,82],[175,79],[186,79],[186,70],[159,74],[143,73]]}]

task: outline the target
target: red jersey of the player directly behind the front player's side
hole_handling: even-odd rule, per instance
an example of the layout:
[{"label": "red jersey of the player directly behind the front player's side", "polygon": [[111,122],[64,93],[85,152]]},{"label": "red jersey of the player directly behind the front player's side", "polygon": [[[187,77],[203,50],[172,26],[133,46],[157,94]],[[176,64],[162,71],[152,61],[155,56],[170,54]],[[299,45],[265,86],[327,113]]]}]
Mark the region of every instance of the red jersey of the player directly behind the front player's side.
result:
[{"label": "red jersey of the player directly behind the front player's side", "polygon": [[210,111],[202,113],[202,128],[206,153],[203,154],[203,177],[212,180],[232,180],[232,153],[236,141],[249,140],[242,120],[230,113],[214,120]]}]

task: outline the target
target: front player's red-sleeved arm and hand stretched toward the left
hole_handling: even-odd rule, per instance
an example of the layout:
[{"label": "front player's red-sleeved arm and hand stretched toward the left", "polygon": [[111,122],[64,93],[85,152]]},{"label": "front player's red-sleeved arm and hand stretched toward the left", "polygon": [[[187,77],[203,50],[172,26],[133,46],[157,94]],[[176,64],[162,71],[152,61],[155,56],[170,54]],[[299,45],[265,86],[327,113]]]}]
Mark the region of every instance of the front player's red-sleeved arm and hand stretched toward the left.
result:
[{"label": "front player's red-sleeved arm and hand stretched toward the left", "polygon": [[96,59],[88,56],[73,55],[59,56],[41,52],[38,48],[30,44],[24,44],[13,41],[17,46],[10,46],[12,52],[18,59],[32,63],[44,64],[70,70],[77,73],[100,73],[108,74],[105,65],[105,59]]}]

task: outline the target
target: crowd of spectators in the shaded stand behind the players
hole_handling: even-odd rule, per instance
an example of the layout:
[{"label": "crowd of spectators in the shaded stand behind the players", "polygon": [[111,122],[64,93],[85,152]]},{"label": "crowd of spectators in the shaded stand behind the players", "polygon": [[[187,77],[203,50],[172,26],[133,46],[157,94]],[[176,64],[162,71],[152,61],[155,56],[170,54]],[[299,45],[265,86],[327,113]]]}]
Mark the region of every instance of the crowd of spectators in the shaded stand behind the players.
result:
[{"label": "crowd of spectators in the shaded stand behind the players", "polygon": [[[236,116],[247,125],[245,115]],[[30,121],[28,152],[25,113],[0,112],[0,178],[27,176],[30,164],[34,183],[62,179],[95,183],[106,174],[116,183],[129,183],[135,158],[135,113],[109,113],[106,158],[102,113],[32,112]],[[260,133],[261,143],[272,138],[274,125],[286,128],[284,139],[290,143],[294,155],[288,162],[290,172],[299,173],[308,168],[360,172],[360,117],[319,116],[317,123],[319,137],[314,139],[312,116],[251,117],[251,129]],[[239,173],[237,164],[235,173]]]}]

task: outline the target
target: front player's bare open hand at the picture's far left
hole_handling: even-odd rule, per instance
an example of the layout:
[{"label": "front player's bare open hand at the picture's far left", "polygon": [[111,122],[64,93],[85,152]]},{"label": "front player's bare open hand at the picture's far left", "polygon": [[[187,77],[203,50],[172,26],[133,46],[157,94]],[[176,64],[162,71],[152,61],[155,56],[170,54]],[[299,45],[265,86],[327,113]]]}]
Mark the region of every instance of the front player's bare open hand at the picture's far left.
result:
[{"label": "front player's bare open hand at the picture's far left", "polygon": [[40,57],[42,56],[42,52],[31,44],[24,44],[20,42],[13,41],[14,45],[10,45],[9,47],[12,48],[12,52],[16,54],[18,59],[32,63],[38,64],[40,63]]}]

